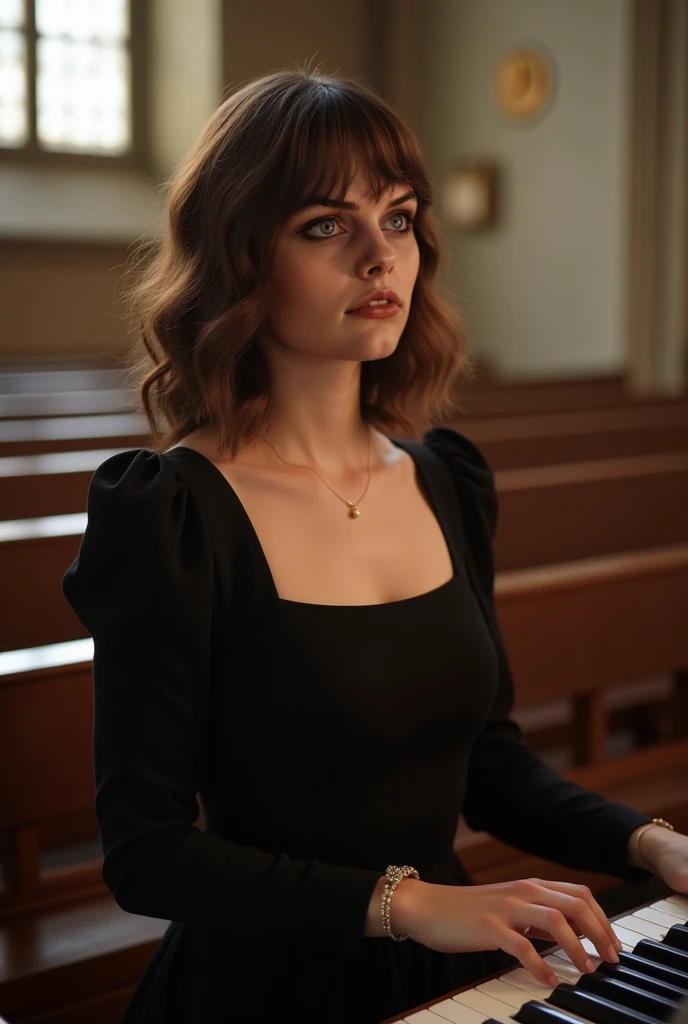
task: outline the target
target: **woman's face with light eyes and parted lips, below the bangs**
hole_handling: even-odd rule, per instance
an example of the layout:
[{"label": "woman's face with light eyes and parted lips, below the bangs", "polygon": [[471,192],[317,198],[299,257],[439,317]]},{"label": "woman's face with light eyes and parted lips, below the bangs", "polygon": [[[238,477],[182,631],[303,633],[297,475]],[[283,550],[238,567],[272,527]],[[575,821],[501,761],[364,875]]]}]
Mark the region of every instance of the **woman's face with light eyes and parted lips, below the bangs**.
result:
[{"label": "woman's face with light eyes and parted lips, below the bangs", "polygon": [[[374,204],[357,175],[344,202],[358,209],[317,203],[286,222],[268,286],[268,339],[304,355],[335,359],[380,359],[394,351],[420,263],[412,223],[418,201],[399,202],[411,190],[392,185]],[[378,288],[398,295],[395,315],[372,319],[347,312]]]}]

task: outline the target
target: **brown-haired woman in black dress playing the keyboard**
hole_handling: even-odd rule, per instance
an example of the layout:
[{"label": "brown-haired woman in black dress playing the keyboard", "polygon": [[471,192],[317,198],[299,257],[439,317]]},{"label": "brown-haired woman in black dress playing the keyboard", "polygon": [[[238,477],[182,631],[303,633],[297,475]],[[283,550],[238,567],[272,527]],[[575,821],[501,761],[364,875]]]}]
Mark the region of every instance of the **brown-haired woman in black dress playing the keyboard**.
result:
[{"label": "brown-haired woman in black dress playing the keyboard", "polygon": [[63,581],[94,638],[103,879],[171,922],[125,1021],[374,1024],[508,965],[547,981],[532,936],[613,958],[589,890],[474,886],[453,852],[463,811],[651,878],[628,859],[650,819],[509,718],[489,466],[418,439],[471,368],[415,137],[354,82],[281,71],[221,104],[167,199],[129,293],[152,446],[94,473]]}]

